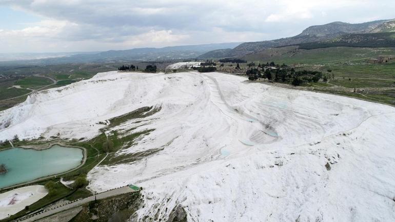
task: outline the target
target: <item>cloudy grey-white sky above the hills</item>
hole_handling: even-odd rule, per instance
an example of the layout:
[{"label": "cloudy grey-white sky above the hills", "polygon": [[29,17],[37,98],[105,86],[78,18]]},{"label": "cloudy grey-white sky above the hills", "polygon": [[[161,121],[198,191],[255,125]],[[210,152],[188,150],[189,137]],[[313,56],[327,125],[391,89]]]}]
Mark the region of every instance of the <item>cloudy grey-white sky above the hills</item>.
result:
[{"label": "cloudy grey-white sky above the hills", "polygon": [[393,0],[0,0],[0,53],[262,41],[394,12]]}]

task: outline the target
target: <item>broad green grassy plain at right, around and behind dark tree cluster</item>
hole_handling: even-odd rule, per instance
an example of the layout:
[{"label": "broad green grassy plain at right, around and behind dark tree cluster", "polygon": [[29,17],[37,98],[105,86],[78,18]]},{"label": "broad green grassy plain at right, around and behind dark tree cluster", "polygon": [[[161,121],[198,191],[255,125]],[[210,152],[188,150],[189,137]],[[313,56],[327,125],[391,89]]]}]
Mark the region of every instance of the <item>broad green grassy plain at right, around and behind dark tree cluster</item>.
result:
[{"label": "broad green grassy plain at right, around and behind dark tree cluster", "polygon": [[[379,56],[395,57],[395,48],[352,48],[331,47],[320,49],[299,49],[298,46],[266,49],[244,57],[255,64],[287,64],[296,70],[320,71],[334,75],[328,83],[306,83],[304,86],[320,87],[322,91],[363,98],[375,102],[395,104],[395,59],[387,63],[370,64],[369,59]],[[246,66],[246,64],[241,64]],[[328,70],[331,70],[329,72]],[[338,87],[330,90],[328,87]],[[343,87],[344,90],[339,90]],[[350,92],[356,88],[357,92]],[[365,90],[369,88],[369,90]],[[359,89],[359,90],[358,90]]]}]

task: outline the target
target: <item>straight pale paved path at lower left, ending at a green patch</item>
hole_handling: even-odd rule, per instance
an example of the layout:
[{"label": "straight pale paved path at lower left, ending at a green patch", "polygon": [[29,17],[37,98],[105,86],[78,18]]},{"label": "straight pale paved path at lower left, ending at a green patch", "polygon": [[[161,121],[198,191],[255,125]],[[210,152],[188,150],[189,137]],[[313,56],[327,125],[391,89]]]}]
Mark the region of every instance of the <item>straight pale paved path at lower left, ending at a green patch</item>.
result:
[{"label": "straight pale paved path at lower left, ending at a green patch", "polygon": [[[96,194],[96,199],[105,199],[105,198],[108,198],[108,197],[117,196],[117,195],[125,194],[125,193],[132,193],[132,192],[138,192],[138,191],[131,189],[129,186],[126,186],[126,187],[121,187],[121,188],[117,188],[117,189],[114,189],[114,190],[109,190],[109,191],[106,191],[106,192],[103,192],[103,193],[98,193],[98,194]],[[73,202],[71,204],[67,204],[65,206],[58,207],[58,208],[46,211],[46,212],[41,213],[41,214],[37,214],[37,215],[35,215],[33,217],[30,217],[30,218],[27,218],[27,219],[24,219],[24,220],[16,220],[16,221],[32,222],[32,221],[35,221],[35,220],[38,220],[38,219],[42,219],[44,217],[47,217],[47,216],[50,216],[50,215],[53,215],[53,214],[56,214],[56,213],[59,213],[59,212],[65,211],[65,210],[69,210],[69,209],[72,209],[72,208],[75,208],[75,207],[87,204],[90,201],[93,201],[94,199],[95,199],[95,196],[93,195],[93,196],[90,196],[90,197],[87,197],[87,198],[75,201],[75,202]]]}]

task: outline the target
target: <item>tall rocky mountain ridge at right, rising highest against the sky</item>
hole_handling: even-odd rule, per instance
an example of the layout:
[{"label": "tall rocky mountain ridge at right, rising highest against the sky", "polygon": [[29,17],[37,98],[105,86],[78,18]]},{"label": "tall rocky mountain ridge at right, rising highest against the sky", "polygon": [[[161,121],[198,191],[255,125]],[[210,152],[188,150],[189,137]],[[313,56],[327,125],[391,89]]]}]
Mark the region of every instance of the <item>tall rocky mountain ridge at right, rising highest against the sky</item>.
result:
[{"label": "tall rocky mountain ridge at right, rising highest against the sky", "polygon": [[[250,53],[256,53],[273,47],[323,42],[350,33],[367,33],[389,21],[391,20],[380,20],[361,24],[333,22],[325,25],[310,26],[303,30],[301,34],[293,37],[240,44],[234,49],[223,54],[223,57],[242,57]],[[210,54],[215,55],[215,52],[206,53],[206,55]]]}]

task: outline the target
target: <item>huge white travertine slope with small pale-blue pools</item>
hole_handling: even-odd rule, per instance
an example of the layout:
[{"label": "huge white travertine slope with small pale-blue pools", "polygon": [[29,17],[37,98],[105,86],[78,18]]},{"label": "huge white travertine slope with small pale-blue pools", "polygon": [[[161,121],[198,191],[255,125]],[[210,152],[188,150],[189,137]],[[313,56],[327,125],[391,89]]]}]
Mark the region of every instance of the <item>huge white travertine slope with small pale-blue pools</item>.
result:
[{"label": "huge white travertine slope with small pale-blue pools", "polygon": [[156,151],[88,174],[97,192],[142,186],[133,219],[395,221],[395,108],[363,100],[216,72],[107,72],[0,112],[0,140],[89,139],[141,107],[161,109],[114,130],[154,130],[118,154]]}]

